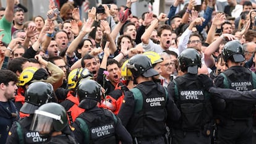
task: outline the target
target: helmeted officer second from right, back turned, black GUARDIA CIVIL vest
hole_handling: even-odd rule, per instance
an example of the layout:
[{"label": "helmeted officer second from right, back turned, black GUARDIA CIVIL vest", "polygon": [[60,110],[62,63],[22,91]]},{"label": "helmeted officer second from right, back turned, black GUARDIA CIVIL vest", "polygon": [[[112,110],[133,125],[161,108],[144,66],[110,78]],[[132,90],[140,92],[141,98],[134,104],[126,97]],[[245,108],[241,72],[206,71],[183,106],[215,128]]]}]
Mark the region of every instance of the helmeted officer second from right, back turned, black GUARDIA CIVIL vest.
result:
[{"label": "helmeted officer second from right, back turned, black GUARDIA CIVIL vest", "polygon": [[172,143],[210,143],[212,107],[210,94],[197,75],[198,67],[201,67],[200,54],[196,49],[187,48],[178,61],[184,75],[168,85],[168,91],[181,111],[181,119],[171,125]]}]

